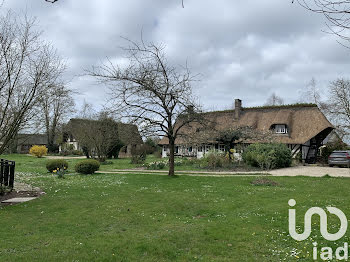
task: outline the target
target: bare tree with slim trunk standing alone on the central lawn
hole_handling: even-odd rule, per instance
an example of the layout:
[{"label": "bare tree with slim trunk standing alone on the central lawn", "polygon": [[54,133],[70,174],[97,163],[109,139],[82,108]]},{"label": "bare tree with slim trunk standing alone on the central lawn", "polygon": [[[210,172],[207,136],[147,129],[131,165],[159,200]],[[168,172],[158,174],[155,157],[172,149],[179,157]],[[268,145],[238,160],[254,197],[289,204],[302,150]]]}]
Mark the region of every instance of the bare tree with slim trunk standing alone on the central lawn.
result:
[{"label": "bare tree with slim trunk standing alone on the central lawn", "polygon": [[129,43],[124,49],[129,55],[126,67],[109,61],[89,74],[111,85],[113,108],[121,108],[122,117],[169,139],[169,176],[173,176],[175,140],[198,110],[190,85],[193,77],[187,67],[180,71],[171,66],[162,46]]}]

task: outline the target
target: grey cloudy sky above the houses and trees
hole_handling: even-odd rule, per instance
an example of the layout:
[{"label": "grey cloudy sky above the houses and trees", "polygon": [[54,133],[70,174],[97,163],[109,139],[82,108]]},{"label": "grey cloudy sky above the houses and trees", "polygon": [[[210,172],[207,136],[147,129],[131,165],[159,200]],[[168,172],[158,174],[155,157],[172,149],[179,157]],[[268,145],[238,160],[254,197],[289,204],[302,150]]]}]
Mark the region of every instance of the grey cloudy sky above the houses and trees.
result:
[{"label": "grey cloudy sky above the houses and trees", "polygon": [[38,19],[43,37],[68,61],[66,78],[84,100],[100,107],[107,89],[82,76],[109,57],[124,57],[121,36],[166,45],[174,65],[186,62],[205,109],[265,103],[275,92],[297,102],[311,78],[325,93],[330,81],[350,78],[350,49],[336,42],[322,16],[290,0],[5,0]]}]

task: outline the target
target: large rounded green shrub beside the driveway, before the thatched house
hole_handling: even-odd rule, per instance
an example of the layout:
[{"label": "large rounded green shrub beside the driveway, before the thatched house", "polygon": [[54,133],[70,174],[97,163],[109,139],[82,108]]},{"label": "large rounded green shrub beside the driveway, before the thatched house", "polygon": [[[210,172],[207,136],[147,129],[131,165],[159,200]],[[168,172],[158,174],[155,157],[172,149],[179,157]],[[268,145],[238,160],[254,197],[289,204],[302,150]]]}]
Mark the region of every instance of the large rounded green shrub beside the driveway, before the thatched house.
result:
[{"label": "large rounded green shrub beside the driveway, before the thatched house", "polygon": [[284,144],[251,144],[242,154],[244,162],[261,169],[289,167],[292,152]]}]

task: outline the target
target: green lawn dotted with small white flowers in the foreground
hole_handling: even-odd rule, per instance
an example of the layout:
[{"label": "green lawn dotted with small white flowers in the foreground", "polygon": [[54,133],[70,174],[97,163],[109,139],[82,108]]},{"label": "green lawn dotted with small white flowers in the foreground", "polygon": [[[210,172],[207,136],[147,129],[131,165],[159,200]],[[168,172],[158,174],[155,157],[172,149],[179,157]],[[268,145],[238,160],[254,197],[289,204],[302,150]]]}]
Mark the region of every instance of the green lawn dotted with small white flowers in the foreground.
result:
[{"label": "green lawn dotted with small white flowers in the foreground", "polygon": [[[317,219],[313,239],[292,240],[287,203],[296,199],[299,225],[312,206],[334,205],[350,217],[350,179],[272,178],[277,187],[253,186],[254,177],[58,179],[45,159],[5,157],[16,160],[16,179],[46,195],[0,209],[1,261],[313,261],[314,241],[349,242],[349,234],[323,240]],[[337,231],[336,217],[328,224]]]}]

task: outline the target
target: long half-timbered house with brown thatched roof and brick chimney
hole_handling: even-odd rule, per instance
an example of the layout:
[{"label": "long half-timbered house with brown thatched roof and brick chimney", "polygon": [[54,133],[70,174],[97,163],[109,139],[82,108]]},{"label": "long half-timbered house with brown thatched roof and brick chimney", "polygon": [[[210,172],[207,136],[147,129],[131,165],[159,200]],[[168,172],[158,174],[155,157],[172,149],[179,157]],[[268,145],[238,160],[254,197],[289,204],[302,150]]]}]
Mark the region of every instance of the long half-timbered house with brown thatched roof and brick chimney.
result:
[{"label": "long half-timbered house with brown thatched roof and brick chimney", "polygon": [[[202,113],[201,117],[201,123],[190,124],[181,131],[181,135],[175,142],[178,147],[177,151],[181,149],[186,153],[186,148],[192,144],[190,146],[191,155],[202,156],[208,151],[208,148],[220,149],[220,145],[215,144],[215,139],[209,138],[210,134],[249,127],[261,135],[241,141],[242,143],[250,144],[273,140],[287,144],[294,155],[301,151],[305,160],[314,161],[317,149],[334,129],[314,104],[244,108],[241,100],[236,99],[235,109]],[[190,137],[196,137],[197,140],[191,140]],[[205,138],[206,141],[198,140],[201,137]],[[160,145],[163,146],[164,150],[167,150],[168,140],[166,137],[160,141]]]}]

